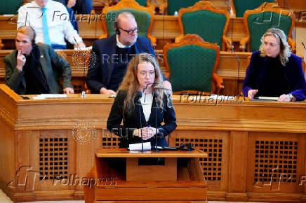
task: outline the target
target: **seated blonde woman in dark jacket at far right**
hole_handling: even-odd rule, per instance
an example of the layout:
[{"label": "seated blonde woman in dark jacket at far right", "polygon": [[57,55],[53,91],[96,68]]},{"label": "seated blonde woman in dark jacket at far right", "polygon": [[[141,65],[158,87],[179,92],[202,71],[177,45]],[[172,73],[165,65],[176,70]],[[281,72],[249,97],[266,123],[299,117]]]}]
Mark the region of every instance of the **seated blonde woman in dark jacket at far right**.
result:
[{"label": "seated blonde woman in dark jacket at far right", "polygon": [[286,35],[271,28],[261,38],[259,51],[253,52],[242,87],[244,97],[279,97],[279,102],[306,98],[302,59],[291,53]]}]

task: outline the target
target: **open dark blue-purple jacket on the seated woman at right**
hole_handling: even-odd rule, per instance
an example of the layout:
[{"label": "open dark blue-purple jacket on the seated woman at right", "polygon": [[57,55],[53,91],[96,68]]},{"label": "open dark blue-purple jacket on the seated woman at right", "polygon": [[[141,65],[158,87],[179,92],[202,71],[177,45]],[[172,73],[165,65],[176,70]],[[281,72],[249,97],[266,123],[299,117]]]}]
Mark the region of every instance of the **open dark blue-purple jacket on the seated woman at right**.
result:
[{"label": "open dark blue-purple jacket on the seated woman at right", "polygon": [[[260,82],[265,76],[267,68],[267,57],[260,57],[259,51],[253,52],[242,87],[244,97],[248,97],[248,90],[260,91],[262,86],[260,86]],[[302,72],[302,59],[291,54],[284,66],[284,71],[289,83],[289,92],[284,92],[283,94],[293,94],[296,97],[296,101],[306,99],[306,83],[304,73]]]}]

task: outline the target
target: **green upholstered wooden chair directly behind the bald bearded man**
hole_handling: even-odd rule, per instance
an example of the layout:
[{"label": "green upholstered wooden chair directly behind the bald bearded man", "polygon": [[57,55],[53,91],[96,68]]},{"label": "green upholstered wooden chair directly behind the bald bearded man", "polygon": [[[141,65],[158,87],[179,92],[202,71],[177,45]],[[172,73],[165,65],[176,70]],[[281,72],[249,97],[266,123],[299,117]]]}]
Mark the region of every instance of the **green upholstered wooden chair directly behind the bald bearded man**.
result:
[{"label": "green upholstered wooden chair directly behind the bald bearded man", "polygon": [[102,21],[102,26],[106,34],[100,36],[100,38],[105,38],[115,33],[114,19],[119,13],[124,11],[131,12],[135,16],[135,20],[139,27],[138,35],[149,38],[152,44],[155,45],[157,41],[156,38],[149,34],[154,18],[153,10],[145,6],[140,6],[134,0],[121,0],[115,6],[107,6],[102,10],[102,13],[105,13],[107,16],[106,20]]}]

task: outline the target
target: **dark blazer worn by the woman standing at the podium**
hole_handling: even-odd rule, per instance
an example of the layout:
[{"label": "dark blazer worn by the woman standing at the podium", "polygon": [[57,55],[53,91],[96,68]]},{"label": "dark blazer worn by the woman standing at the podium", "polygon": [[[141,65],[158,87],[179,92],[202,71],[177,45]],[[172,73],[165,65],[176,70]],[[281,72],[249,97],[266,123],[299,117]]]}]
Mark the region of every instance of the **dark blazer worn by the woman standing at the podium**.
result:
[{"label": "dark blazer worn by the woman standing at the podium", "polygon": [[[128,147],[128,144],[140,143],[140,137],[133,137],[133,129],[141,128],[151,125],[151,127],[156,127],[159,129],[158,146],[168,146],[165,136],[173,132],[176,128],[176,118],[175,112],[173,109],[173,104],[171,102],[171,98],[164,97],[164,108],[155,108],[157,106],[155,101],[155,96],[153,97],[151,114],[149,116],[149,121],[145,121],[145,115],[143,114],[142,106],[137,105],[140,104],[138,100],[139,97],[135,97],[135,109],[133,113],[123,113],[124,108],[124,99],[126,99],[126,90],[119,90],[117,97],[114,99],[114,104],[112,105],[112,109],[109,113],[109,117],[107,119],[107,129],[114,134],[117,134],[120,138],[120,148]],[[168,103],[169,101],[169,103]],[[169,104],[169,105],[168,105]],[[170,106],[170,107],[169,107]],[[157,111],[155,111],[157,110]],[[140,113],[141,112],[141,113]],[[141,123],[140,125],[140,115],[141,115]],[[156,116],[157,115],[157,116]],[[157,119],[157,123],[156,123]],[[121,125],[121,121],[124,121],[124,125]],[[164,125],[161,123],[164,121]],[[148,139],[147,141],[151,142],[151,146],[155,146],[156,141],[155,137]]]}]

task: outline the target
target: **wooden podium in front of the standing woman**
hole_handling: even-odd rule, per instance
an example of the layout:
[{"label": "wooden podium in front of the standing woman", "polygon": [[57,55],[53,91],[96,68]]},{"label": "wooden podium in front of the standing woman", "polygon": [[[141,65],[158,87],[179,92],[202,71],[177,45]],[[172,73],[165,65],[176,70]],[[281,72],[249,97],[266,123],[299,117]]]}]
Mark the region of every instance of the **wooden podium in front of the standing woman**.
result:
[{"label": "wooden podium in front of the standing woman", "polygon": [[195,151],[95,151],[95,165],[84,187],[85,202],[201,201],[206,181],[199,163],[207,154]]}]

